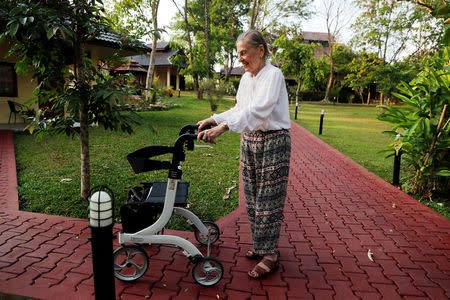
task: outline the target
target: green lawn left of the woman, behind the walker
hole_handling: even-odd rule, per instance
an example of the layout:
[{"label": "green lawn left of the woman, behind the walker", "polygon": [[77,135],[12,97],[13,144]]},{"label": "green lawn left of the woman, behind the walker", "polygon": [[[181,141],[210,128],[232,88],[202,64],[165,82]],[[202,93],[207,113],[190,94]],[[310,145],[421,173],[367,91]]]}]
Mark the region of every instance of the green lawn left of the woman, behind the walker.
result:
[{"label": "green lawn left of the woman, behind the walker", "polygon": [[[150,145],[173,145],[183,125],[195,124],[211,115],[207,100],[172,98],[167,101],[176,102],[180,107],[140,113],[157,128],[156,135],[144,126],[136,126],[131,135],[95,127],[90,130],[91,184],[106,184],[113,190],[117,212],[126,202],[131,187],[142,181],[167,180],[167,170],[134,174],[126,155]],[[218,111],[233,104],[232,101],[219,101]],[[34,136],[18,134],[14,144],[20,209],[87,218],[87,203],[79,196],[79,138],[49,136],[36,140]],[[165,158],[168,157],[161,159]],[[239,135],[222,135],[213,149],[187,151],[183,181],[190,182],[190,209],[201,219],[215,221],[236,209],[237,188],[229,199],[222,198],[226,188],[239,181]],[[172,227],[184,228],[176,219]]]}]

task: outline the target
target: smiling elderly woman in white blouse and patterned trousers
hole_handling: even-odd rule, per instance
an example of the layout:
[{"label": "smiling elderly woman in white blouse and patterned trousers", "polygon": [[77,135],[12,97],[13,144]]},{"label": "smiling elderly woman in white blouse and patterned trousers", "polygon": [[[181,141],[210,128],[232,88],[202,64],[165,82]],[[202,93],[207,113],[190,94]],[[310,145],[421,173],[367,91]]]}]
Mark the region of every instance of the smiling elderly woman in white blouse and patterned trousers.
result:
[{"label": "smiling elderly woman in white blouse and patterned trousers", "polygon": [[[236,42],[245,69],[236,106],[199,121],[198,140],[215,143],[226,131],[242,133],[241,170],[253,238],[249,259],[260,262],[248,272],[259,279],[278,268],[278,239],[289,175],[291,127],[286,84],[280,69],[266,62],[267,44],[250,30]],[[201,131],[206,125],[215,126]]]}]

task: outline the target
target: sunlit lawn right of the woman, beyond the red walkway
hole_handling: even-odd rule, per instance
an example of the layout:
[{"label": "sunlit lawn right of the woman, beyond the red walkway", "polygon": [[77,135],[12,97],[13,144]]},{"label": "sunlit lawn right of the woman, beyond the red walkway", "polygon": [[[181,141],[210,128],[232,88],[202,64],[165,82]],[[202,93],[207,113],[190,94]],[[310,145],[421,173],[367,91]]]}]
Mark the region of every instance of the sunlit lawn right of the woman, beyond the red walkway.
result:
[{"label": "sunlit lawn right of the woman, beyond the red walkway", "polygon": [[[322,135],[319,135],[321,110],[325,110]],[[294,120],[295,105],[291,105],[291,119]],[[386,158],[382,152],[392,143],[393,137],[383,134],[391,130],[391,125],[377,119],[378,109],[367,105],[332,105],[321,103],[301,103],[297,122],[324,142],[342,152],[378,175],[392,183],[394,158]],[[400,177],[412,174],[405,164],[402,164]],[[417,197],[416,197],[417,198]],[[450,218],[450,205],[445,199],[419,199],[433,210]]]}]

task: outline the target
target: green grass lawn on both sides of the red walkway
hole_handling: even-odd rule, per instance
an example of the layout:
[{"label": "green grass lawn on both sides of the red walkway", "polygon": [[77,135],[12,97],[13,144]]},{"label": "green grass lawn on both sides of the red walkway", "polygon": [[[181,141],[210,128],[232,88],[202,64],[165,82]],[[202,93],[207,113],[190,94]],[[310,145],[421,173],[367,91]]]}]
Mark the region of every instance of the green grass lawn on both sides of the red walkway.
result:
[{"label": "green grass lawn on both sides of the red walkway", "polygon": [[[147,127],[135,127],[131,135],[120,132],[91,129],[92,185],[106,184],[115,193],[116,209],[125,203],[128,190],[142,181],[167,180],[167,171],[134,174],[125,156],[150,145],[172,145],[179,129],[209,117],[206,100],[189,97],[171,98],[166,102],[180,107],[168,111],[143,112],[141,115],[158,129],[153,134]],[[219,102],[218,112],[234,104]],[[318,135],[320,111],[325,109],[323,134]],[[291,106],[294,119],[295,107]],[[388,182],[392,181],[393,158],[379,153],[392,138],[382,134],[389,130],[387,123],[377,120],[374,106],[333,106],[301,104],[296,122],[319,136],[326,143],[349,156],[357,163]],[[27,134],[15,135],[18,168],[20,208],[22,210],[71,217],[87,217],[87,203],[79,197],[80,143],[78,138],[45,137],[36,140]],[[239,135],[227,133],[219,138],[213,149],[201,148],[187,152],[183,164],[183,180],[191,183],[189,202],[191,210],[205,220],[218,220],[238,206],[238,189],[230,199],[223,200],[226,188],[239,180]],[[402,169],[401,176],[407,173]],[[449,217],[448,203],[425,204]],[[118,215],[118,214],[117,214]],[[175,219],[173,228],[186,228]]]}]

